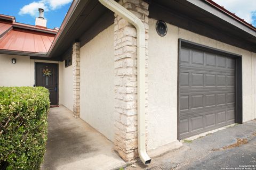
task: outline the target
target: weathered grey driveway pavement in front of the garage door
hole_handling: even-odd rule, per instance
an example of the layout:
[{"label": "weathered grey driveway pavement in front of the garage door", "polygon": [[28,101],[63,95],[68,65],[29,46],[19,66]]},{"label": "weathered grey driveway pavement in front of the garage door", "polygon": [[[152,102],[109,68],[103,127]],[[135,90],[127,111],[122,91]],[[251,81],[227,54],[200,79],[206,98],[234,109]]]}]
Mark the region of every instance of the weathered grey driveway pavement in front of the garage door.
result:
[{"label": "weathered grey driveway pavement in front of the garage door", "polygon": [[[247,166],[247,167],[246,167]],[[236,124],[195,140],[152,159],[125,169],[256,169],[256,121]]]}]

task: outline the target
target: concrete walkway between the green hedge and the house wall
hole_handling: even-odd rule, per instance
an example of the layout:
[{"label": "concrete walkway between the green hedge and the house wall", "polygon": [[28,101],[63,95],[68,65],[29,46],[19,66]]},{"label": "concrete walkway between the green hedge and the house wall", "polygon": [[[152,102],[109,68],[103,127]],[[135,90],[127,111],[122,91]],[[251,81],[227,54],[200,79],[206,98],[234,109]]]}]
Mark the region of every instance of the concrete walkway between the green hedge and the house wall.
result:
[{"label": "concrete walkway between the green hedge and the house wall", "polygon": [[117,169],[125,162],[113,143],[64,106],[51,108],[42,170]]}]

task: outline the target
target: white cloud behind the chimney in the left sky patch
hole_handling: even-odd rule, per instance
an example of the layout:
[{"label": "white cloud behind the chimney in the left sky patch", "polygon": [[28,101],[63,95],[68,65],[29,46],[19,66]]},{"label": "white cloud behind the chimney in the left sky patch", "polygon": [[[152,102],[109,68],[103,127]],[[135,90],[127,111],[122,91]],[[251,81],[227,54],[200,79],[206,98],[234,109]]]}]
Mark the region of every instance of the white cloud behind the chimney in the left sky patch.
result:
[{"label": "white cloud behind the chimney in the left sky patch", "polygon": [[41,0],[37,2],[34,1],[30,4],[23,6],[19,11],[19,15],[29,14],[35,17],[38,15],[38,8],[43,8],[44,11],[52,11],[70,2],[72,2],[72,0]]}]

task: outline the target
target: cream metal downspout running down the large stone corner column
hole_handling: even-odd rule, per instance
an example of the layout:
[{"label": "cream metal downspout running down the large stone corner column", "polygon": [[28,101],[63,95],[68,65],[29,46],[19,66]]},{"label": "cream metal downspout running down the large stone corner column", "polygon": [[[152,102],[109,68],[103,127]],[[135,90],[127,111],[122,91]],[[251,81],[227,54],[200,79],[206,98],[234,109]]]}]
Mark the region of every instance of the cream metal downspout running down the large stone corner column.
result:
[{"label": "cream metal downspout running down the large stone corner column", "polygon": [[151,159],[146,151],[145,128],[145,27],[133,13],[114,0],[99,0],[109,10],[122,16],[137,29],[137,81],[138,81],[138,152],[143,164],[150,164]]}]

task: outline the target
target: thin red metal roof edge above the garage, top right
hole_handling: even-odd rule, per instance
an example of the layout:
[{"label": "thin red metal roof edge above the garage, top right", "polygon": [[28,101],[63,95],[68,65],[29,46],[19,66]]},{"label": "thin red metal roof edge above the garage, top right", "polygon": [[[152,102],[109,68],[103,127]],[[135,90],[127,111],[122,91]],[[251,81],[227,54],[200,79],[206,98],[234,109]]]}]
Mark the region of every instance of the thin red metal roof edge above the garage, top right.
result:
[{"label": "thin red metal roof edge above the garage, top right", "polygon": [[231,16],[232,18],[238,20],[239,22],[242,22],[242,23],[245,24],[247,27],[249,27],[249,28],[253,29],[254,31],[256,31],[256,28],[255,28],[252,24],[246,22],[246,21],[245,21],[244,19],[242,19],[242,18],[239,18],[239,16],[237,16],[235,13],[231,13],[230,11],[226,10],[223,6],[220,6],[219,4],[213,2],[212,0],[205,0],[205,1],[206,1],[207,3],[209,3],[209,4],[211,4],[212,6],[218,8],[218,9],[219,9],[220,11],[222,11],[223,13],[226,13],[227,15]]}]

